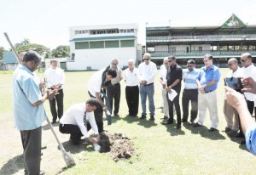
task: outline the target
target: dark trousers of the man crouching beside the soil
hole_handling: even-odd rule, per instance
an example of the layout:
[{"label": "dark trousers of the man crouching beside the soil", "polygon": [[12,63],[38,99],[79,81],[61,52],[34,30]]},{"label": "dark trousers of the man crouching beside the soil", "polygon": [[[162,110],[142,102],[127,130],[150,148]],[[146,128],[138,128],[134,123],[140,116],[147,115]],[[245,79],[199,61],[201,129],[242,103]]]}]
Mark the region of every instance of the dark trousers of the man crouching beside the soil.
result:
[{"label": "dark trousers of the man crouching beside the soil", "polygon": [[[87,123],[87,131],[89,131],[90,128],[90,123]],[[70,133],[70,140],[73,142],[73,144],[78,144],[79,139],[83,136],[83,133],[81,133],[81,130],[77,125],[60,123],[59,131],[61,133]]]}]

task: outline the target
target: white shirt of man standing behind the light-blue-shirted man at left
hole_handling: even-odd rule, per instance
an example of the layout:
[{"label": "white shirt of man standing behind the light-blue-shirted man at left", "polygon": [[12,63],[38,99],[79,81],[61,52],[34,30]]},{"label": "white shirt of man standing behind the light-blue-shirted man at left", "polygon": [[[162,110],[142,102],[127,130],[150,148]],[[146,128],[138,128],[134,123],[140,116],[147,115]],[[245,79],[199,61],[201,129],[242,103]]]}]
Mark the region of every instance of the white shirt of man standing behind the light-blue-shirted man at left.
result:
[{"label": "white shirt of man standing behind the light-blue-shirted man at left", "polygon": [[65,74],[64,71],[61,70],[61,68],[56,67],[55,69],[52,69],[49,67],[46,71],[44,71],[45,80],[47,83],[48,88],[51,88],[54,85],[64,84],[65,82]]}]

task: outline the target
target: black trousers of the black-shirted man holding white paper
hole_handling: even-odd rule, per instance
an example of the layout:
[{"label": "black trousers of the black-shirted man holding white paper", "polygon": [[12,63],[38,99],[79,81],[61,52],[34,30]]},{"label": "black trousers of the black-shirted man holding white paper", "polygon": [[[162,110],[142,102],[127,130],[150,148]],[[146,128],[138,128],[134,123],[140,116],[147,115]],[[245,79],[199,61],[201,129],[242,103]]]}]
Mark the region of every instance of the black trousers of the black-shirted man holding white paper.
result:
[{"label": "black trousers of the black-shirted man holding white paper", "polygon": [[181,125],[181,113],[180,113],[180,105],[179,105],[179,93],[177,93],[177,96],[173,99],[173,101],[171,101],[168,98],[168,93],[167,95],[167,99],[168,99],[168,107],[169,107],[169,121],[173,122],[173,104],[175,106],[175,110],[176,110],[176,115],[177,115],[177,126]]}]

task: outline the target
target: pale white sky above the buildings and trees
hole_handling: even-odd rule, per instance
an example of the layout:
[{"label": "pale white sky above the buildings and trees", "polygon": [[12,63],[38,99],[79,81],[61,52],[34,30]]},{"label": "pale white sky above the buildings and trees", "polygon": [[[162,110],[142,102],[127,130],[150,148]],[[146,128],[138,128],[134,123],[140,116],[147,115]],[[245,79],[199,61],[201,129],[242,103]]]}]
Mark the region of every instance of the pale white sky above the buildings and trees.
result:
[{"label": "pale white sky above the buildings and trees", "polygon": [[145,44],[145,26],[223,25],[232,14],[256,25],[255,0],[3,0],[0,47],[9,49],[27,38],[54,49],[69,45],[69,27],[137,23],[138,43]]}]

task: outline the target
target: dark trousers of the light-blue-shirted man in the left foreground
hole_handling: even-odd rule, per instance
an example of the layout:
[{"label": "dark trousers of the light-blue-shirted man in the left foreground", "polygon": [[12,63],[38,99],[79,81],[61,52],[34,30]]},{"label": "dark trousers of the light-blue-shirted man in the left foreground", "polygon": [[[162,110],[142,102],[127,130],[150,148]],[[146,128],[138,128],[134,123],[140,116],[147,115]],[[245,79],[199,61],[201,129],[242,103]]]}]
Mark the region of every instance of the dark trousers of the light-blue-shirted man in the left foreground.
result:
[{"label": "dark trousers of the light-blue-shirted man in the left foreground", "polygon": [[26,175],[40,173],[42,127],[20,131]]}]

